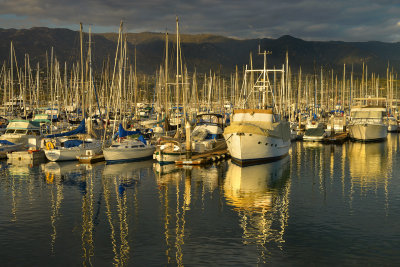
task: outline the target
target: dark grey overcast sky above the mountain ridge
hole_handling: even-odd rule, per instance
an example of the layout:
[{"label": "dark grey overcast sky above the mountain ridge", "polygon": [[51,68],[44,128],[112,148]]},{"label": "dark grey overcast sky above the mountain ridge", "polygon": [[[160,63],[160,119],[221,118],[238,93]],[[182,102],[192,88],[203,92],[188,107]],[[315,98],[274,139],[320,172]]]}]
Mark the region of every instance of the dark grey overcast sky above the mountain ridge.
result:
[{"label": "dark grey overcast sky above the mountain ridge", "polygon": [[0,0],[0,28],[213,33],[241,39],[400,41],[400,0]]}]

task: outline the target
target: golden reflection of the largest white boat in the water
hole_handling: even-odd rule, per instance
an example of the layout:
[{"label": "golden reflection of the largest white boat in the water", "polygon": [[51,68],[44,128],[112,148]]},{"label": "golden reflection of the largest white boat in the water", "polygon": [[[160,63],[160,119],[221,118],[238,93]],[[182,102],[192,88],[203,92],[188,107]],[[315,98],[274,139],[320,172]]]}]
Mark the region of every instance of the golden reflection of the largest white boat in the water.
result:
[{"label": "golden reflection of the largest white boat in the water", "polygon": [[238,212],[243,242],[256,244],[259,262],[267,260],[267,244],[282,248],[287,226],[290,182],[289,157],[280,161],[240,167],[229,163],[224,195]]}]

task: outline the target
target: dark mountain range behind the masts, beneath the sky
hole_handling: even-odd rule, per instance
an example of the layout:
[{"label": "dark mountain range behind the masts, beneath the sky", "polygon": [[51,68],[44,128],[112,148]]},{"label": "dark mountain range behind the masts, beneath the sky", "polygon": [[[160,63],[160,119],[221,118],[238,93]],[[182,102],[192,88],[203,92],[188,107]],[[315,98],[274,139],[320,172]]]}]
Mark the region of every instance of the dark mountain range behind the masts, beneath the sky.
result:
[{"label": "dark mountain range behind the masts, beneath the sky", "polygon": [[[10,65],[10,46],[13,43],[18,64],[24,64],[29,55],[30,63],[40,62],[46,65],[53,51],[58,61],[72,64],[80,60],[80,33],[69,29],[35,27],[31,29],[0,29],[0,62]],[[134,64],[135,50],[137,71],[154,75],[165,61],[165,33],[126,33],[128,59]],[[84,34],[85,51],[89,45],[88,34]],[[250,52],[253,67],[262,68],[261,51],[269,51],[268,67],[281,68],[285,63],[286,51],[293,73],[301,67],[303,73],[319,73],[322,67],[326,71],[334,70],[341,76],[343,64],[346,72],[351,69],[356,74],[362,72],[363,62],[368,73],[377,73],[386,77],[386,69],[396,72],[400,68],[400,42],[384,43],[342,42],[342,41],[306,41],[284,35],[278,39],[234,39],[211,34],[180,35],[182,60],[190,72],[209,73],[210,70],[230,75],[236,66],[242,70],[249,64]],[[94,65],[100,68],[104,62],[114,64],[117,49],[117,33],[96,33],[91,36],[92,58]],[[176,35],[169,34],[170,68],[174,69],[176,54]]]}]

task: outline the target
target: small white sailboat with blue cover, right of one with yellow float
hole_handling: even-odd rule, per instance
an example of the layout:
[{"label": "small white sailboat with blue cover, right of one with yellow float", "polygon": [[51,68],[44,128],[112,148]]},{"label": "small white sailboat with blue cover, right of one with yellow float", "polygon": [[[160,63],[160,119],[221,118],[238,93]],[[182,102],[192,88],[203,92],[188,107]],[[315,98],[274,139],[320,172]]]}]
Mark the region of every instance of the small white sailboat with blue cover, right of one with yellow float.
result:
[{"label": "small white sailboat with blue cover, right of one with yellow float", "polygon": [[[107,163],[151,159],[156,147],[140,134],[140,131],[126,131],[120,124],[118,139],[103,150]],[[139,137],[132,138],[133,135],[139,135]]]}]

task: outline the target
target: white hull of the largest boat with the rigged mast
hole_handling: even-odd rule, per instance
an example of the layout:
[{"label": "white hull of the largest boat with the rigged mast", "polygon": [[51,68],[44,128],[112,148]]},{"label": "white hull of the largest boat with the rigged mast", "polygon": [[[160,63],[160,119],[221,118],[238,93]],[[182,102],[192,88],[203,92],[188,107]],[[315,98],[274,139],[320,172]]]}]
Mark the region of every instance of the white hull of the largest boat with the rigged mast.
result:
[{"label": "white hull of the largest boat with the rigged mast", "polygon": [[232,160],[238,164],[272,161],[288,154],[290,140],[258,134],[224,134]]}]

